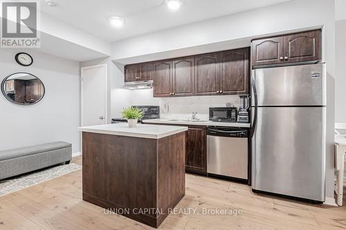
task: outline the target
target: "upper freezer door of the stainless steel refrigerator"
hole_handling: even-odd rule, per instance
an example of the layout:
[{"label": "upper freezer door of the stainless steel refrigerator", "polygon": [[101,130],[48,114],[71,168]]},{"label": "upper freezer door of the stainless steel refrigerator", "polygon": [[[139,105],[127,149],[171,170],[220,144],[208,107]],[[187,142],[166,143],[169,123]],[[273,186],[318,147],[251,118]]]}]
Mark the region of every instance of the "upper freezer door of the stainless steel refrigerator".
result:
[{"label": "upper freezer door of the stainless steel refrigerator", "polygon": [[325,105],[325,64],[262,68],[252,78],[253,106]]}]

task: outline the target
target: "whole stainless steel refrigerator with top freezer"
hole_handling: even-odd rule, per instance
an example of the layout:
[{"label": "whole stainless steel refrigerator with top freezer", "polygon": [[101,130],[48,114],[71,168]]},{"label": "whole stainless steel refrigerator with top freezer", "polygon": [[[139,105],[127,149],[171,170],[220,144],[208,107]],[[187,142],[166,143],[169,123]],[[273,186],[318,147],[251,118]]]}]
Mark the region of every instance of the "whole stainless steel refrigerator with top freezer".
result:
[{"label": "whole stainless steel refrigerator with top freezer", "polygon": [[325,201],[325,64],[251,78],[253,190]]}]

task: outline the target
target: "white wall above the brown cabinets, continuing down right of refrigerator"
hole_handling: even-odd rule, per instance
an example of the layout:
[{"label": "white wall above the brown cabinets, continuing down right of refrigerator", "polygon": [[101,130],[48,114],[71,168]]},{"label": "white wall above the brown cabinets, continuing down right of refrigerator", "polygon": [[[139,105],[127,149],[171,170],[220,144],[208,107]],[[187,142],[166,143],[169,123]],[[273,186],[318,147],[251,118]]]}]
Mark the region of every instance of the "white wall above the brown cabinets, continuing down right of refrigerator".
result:
[{"label": "white wall above the brown cabinets, continuing down right of refrigerator", "polygon": [[[116,41],[112,44],[111,59],[116,61],[149,57],[154,60],[156,56],[163,57],[163,52],[176,50],[183,50],[185,55],[190,55],[197,52],[196,47],[199,50],[206,50],[205,47],[208,47],[210,50],[211,44],[231,44],[231,41],[242,44],[239,40],[249,41],[253,37],[322,28],[322,59],[327,63],[326,195],[331,201],[334,200],[334,11],[334,0],[293,0]],[[118,73],[114,77],[122,78],[123,75]]]}]

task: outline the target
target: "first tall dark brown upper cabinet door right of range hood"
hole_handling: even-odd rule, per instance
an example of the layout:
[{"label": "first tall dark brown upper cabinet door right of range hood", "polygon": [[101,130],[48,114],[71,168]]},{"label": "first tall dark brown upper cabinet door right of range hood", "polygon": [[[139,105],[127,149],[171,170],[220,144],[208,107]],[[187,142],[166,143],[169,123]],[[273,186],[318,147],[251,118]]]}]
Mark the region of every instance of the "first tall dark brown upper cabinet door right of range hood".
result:
[{"label": "first tall dark brown upper cabinet door right of range hood", "polygon": [[172,61],[154,62],[154,97],[171,97],[172,92]]}]

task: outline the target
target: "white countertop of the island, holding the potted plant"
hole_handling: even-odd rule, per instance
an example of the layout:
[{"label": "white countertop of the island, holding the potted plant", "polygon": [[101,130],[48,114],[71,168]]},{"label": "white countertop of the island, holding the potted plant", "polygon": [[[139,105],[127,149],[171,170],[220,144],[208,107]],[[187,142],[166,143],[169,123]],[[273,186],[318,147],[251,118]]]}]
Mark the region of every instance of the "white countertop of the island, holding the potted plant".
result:
[{"label": "white countertop of the island, holding the potted plant", "polygon": [[188,127],[183,126],[161,126],[154,124],[137,124],[137,127],[129,128],[127,123],[102,124],[98,126],[85,126],[78,128],[78,131],[87,133],[102,133],[110,135],[120,135],[127,137],[143,137],[150,139],[160,139],[188,131]]}]

